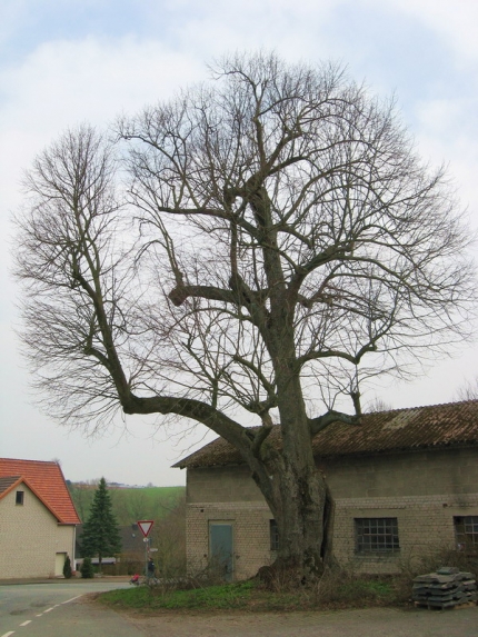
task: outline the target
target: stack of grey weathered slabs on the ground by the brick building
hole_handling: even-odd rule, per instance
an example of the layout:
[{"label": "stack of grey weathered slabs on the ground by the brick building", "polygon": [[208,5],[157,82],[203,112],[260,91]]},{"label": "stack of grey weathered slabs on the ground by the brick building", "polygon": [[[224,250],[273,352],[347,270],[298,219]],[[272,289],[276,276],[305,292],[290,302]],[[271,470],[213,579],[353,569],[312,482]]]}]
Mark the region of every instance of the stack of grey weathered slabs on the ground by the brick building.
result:
[{"label": "stack of grey weathered slabs on the ground by the brick building", "polygon": [[475,575],[455,567],[442,567],[436,573],[414,579],[411,597],[416,606],[454,608],[475,604],[478,599]]}]

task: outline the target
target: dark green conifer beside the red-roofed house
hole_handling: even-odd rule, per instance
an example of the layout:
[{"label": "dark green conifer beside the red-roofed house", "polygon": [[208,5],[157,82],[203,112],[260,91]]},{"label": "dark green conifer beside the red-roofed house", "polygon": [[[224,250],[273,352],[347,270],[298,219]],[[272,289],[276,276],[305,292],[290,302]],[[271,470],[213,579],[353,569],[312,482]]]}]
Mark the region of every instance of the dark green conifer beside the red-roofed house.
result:
[{"label": "dark green conifer beside the red-roofed house", "polygon": [[112,511],[107,482],[101,478],[94,492],[90,515],[83,526],[82,553],[86,557],[98,556],[99,570],[106,556],[121,551],[118,522]]}]

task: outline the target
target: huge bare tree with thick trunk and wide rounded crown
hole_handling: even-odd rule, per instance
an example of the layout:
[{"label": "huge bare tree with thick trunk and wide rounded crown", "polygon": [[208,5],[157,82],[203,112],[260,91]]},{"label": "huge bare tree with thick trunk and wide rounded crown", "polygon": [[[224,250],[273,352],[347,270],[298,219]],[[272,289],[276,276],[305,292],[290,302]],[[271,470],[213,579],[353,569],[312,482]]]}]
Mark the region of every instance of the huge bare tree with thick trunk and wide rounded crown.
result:
[{"label": "huge bare tree with thick trunk and wide rounded crown", "polygon": [[311,440],[360,426],[364,376],[467,335],[469,232],[394,104],[340,69],[237,56],[212,79],[121,120],[116,147],[82,127],[37,159],[26,350],[63,419],[121,406],[226,438],[301,577],[326,550]]}]

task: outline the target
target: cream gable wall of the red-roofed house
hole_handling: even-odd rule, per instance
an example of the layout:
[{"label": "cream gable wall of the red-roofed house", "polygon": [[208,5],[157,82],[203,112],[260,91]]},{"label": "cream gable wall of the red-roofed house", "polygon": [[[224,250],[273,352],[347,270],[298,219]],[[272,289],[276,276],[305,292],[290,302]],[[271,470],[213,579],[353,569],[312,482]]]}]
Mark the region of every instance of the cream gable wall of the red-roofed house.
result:
[{"label": "cream gable wall of the red-roofed house", "polygon": [[[16,505],[17,490],[23,505]],[[26,485],[13,489],[0,500],[0,579],[53,577],[57,553],[73,558],[73,534]]]}]

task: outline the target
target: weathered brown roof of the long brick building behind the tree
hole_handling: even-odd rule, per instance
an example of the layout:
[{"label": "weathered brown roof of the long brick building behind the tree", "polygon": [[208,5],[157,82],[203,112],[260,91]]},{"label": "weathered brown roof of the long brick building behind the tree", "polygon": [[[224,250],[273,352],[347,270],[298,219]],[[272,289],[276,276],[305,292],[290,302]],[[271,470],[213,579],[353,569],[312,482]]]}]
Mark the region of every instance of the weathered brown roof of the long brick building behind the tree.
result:
[{"label": "weathered brown roof of the long brick building behind the tree", "polygon": [[[280,447],[280,427],[269,442]],[[350,456],[438,447],[478,445],[478,400],[365,414],[360,425],[333,422],[312,441],[316,456]],[[215,467],[243,464],[223,438],[217,438],[175,465]]]}]

